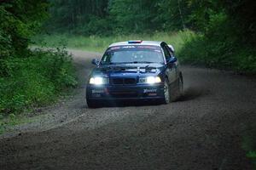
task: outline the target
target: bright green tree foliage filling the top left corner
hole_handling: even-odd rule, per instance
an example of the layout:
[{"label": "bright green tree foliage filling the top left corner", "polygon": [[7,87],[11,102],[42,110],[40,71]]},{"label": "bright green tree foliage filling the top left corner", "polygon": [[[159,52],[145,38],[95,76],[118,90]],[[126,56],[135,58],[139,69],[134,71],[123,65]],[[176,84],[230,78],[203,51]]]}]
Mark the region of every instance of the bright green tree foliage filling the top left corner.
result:
[{"label": "bright green tree foliage filling the top left corner", "polygon": [[48,16],[46,8],[46,0],[11,0],[1,3],[0,59],[26,50],[29,38]]}]

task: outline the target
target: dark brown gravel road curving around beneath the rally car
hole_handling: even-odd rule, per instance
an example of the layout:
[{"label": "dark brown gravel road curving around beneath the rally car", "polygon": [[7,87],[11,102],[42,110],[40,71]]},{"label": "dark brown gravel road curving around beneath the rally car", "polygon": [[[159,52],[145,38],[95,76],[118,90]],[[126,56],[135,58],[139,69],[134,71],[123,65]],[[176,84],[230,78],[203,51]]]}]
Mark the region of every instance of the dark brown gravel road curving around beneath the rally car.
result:
[{"label": "dark brown gravel road curving around beneath the rally car", "polygon": [[70,52],[81,86],[0,136],[0,169],[253,169],[241,144],[256,121],[255,77],[183,66],[182,101],[88,109],[84,82],[100,54]]}]

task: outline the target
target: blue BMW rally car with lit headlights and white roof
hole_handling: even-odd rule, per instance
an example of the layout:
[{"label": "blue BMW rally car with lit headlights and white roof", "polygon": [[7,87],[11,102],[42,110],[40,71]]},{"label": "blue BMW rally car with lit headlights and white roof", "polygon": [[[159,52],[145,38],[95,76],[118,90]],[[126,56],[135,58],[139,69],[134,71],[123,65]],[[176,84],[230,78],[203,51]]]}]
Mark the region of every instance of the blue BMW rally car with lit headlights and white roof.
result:
[{"label": "blue BMW rally car with lit headlights and white roof", "polygon": [[104,101],[158,100],[168,104],[183,95],[183,75],[174,49],[166,42],[129,41],[111,44],[86,87],[88,107]]}]

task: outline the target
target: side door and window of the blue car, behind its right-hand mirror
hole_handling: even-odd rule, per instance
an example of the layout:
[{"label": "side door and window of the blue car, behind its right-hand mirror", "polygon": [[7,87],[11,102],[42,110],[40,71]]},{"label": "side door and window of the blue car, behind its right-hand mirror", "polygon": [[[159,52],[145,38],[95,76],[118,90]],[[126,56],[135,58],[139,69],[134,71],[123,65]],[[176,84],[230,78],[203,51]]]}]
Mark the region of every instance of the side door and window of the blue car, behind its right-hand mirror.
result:
[{"label": "side door and window of the blue car, behind its right-hand mirror", "polygon": [[[168,62],[168,60],[171,59],[172,54],[170,54],[166,43],[162,43],[161,47],[163,49],[163,52],[164,52],[164,55],[165,55],[165,58],[166,58],[166,62]],[[176,65],[174,63],[169,63],[169,64],[166,64],[166,65],[167,65],[166,75],[168,77],[169,82],[170,83],[175,82],[176,75],[177,75]]]}]

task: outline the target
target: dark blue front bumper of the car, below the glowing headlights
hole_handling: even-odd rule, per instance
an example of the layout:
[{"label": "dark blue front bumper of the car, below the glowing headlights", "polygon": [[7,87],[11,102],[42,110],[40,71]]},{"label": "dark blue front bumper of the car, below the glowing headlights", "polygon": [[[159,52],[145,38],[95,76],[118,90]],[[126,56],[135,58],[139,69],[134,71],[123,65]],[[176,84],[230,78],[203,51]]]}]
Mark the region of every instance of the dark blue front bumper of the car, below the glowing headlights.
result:
[{"label": "dark blue front bumper of the car, below the glowing headlights", "polygon": [[87,85],[86,98],[93,100],[164,99],[164,84]]}]

